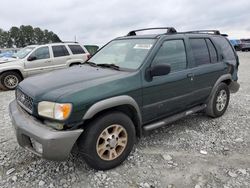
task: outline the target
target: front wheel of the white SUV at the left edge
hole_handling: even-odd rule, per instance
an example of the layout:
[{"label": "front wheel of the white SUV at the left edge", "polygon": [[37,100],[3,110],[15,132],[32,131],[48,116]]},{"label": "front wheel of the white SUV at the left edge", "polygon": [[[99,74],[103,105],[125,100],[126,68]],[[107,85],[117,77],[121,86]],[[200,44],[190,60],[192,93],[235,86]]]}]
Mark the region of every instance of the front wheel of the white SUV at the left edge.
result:
[{"label": "front wheel of the white SUV at the left edge", "polygon": [[22,81],[22,77],[15,71],[7,71],[0,75],[0,88],[2,90],[14,90]]}]

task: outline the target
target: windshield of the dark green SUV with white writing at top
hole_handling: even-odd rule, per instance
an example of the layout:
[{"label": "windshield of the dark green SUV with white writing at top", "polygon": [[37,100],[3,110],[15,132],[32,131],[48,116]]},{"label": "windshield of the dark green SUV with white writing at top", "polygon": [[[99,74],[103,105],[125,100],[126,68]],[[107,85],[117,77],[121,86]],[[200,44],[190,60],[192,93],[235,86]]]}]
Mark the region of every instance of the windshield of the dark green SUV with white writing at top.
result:
[{"label": "windshield of the dark green SUV with white writing at top", "polygon": [[97,52],[89,62],[135,70],[140,67],[154,42],[155,39],[114,40]]}]

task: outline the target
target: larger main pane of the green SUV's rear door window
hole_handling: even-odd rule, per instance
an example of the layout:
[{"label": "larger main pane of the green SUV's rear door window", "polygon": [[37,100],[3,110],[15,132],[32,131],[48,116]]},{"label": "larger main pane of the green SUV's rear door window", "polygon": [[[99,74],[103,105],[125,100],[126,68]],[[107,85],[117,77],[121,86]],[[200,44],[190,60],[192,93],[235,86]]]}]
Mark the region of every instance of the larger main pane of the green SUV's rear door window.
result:
[{"label": "larger main pane of the green SUV's rear door window", "polygon": [[205,39],[190,39],[190,45],[197,66],[210,63],[209,52]]}]

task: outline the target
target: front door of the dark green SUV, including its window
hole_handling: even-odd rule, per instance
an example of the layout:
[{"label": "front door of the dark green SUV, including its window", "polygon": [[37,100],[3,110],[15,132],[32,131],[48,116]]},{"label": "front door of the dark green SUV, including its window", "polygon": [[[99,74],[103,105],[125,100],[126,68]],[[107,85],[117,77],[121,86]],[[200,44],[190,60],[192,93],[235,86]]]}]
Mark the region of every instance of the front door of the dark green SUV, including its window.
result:
[{"label": "front door of the dark green SUV, including its window", "polygon": [[156,64],[169,64],[171,72],[143,81],[143,123],[180,112],[193,101],[184,40],[164,41],[151,67]]}]

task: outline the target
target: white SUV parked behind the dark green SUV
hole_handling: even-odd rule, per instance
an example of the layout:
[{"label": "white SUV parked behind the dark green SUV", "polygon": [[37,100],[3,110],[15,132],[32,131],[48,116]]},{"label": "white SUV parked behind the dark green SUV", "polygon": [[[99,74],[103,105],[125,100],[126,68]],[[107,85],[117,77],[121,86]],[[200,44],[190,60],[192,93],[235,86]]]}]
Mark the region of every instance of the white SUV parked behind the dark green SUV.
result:
[{"label": "white SUV parked behind the dark green SUV", "polygon": [[53,43],[27,46],[9,61],[0,61],[0,89],[15,89],[30,75],[84,63],[89,52],[78,43]]}]

